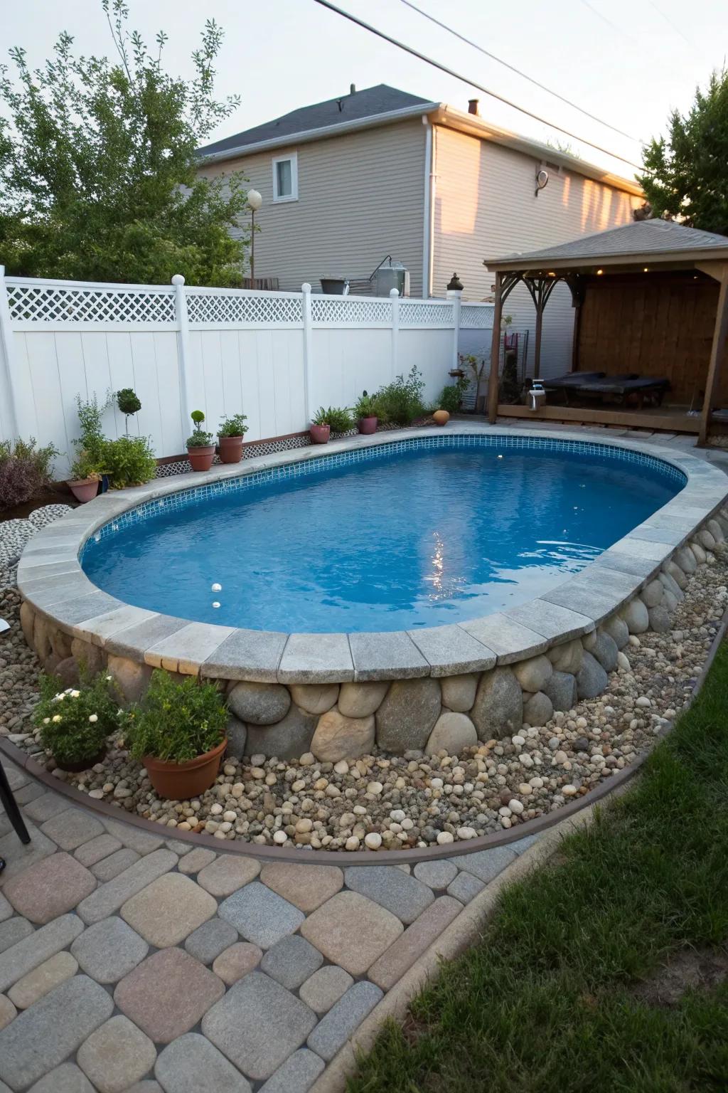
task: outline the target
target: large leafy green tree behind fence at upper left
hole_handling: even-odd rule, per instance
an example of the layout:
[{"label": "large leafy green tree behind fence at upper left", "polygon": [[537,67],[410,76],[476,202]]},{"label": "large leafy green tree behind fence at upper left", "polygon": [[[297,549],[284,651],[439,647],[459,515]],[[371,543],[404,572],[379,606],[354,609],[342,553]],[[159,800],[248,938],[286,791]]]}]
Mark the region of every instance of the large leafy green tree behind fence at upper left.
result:
[{"label": "large leafy green tree behind fence at upper left", "polygon": [[248,239],[236,173],[198,177],[195,149],[238,105],[213,96],[223,31],[205,23],[194,79],[164,71],[127,28],[124,0],[102,0],[118,60],[72,52],[61,34],[45,67],[10,50],[0,66],[0,261],[9,272],[87,281],[239,284]]}]

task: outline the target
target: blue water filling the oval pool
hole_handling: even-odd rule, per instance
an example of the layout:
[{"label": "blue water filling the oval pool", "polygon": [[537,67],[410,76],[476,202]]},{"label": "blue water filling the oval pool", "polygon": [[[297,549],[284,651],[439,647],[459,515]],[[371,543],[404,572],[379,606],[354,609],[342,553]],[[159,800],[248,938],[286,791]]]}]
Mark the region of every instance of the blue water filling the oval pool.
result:
[{"label": "blue water filling the oval pool", "polygon": [[201,622],[318,633],[463,622],[560,584],[684,484],[665,463],[609,451],[491,437],[299,465],[150,503],[107,526],[82,564],[126,602]]}]

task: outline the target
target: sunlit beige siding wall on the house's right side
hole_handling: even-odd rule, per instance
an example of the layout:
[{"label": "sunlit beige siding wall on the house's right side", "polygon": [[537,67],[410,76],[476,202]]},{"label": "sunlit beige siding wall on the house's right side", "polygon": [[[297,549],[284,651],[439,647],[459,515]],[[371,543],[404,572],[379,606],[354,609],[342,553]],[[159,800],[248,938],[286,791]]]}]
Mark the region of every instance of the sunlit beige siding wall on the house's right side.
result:
[{"label": "sunlit beige siding wall on the house's right side", "polygon": [[[626,224],[641,200],[611,186],[562,168],[549,171],[549,183],[535,196],[540,160],[492,141],[440,126],[434,128],[433,294],[441,295],[457,271],[465,299],[490,295],[493,274],[485,257],[536,250],[608,227]],[[533,367],[534,307],[518,285],[504,313],[512,330],[529,330],[527,364]],[[571,367],[573,310],[565,285],[557,285],[544,315],[541,375]],[[482,349],[489,349],[484,345]]]}]

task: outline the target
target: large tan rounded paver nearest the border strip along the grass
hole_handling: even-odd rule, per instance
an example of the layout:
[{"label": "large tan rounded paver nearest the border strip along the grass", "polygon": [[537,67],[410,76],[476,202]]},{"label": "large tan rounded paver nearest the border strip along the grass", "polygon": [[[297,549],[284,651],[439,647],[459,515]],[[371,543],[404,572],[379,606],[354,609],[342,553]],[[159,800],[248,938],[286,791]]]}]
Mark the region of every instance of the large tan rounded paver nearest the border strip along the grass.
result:
[{"label": "large tan rounded paver nearest the border strip along the grass", "polygon": [[307,941],[354,976],[363,975],[403,930],[392,912],[358,892],[338,892],[301,926]]}]

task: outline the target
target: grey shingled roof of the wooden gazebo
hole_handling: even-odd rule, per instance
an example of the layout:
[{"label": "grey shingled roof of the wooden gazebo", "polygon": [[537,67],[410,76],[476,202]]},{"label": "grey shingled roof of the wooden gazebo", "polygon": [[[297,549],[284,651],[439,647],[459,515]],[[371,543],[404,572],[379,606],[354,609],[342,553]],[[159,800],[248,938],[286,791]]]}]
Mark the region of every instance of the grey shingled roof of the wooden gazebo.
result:
[{"label": "grey shingled roof of the wooden gazebo", "polygon": [[486,259],[486,265],[513,262],[540,265],[550,261],[573,259],[588,261],[590,258],[617,258],[630,255],[673,254],[691,250],[728,250],[728,236],[714,232],[703,232],[695,227],[685,227],[670,220],[641,220],[622,227],[610,227],[606,232],[584,235],[570,243],[561,243],[542,250],[525,251],[524,254],[503,255],[500,258]]}]

